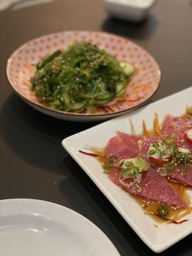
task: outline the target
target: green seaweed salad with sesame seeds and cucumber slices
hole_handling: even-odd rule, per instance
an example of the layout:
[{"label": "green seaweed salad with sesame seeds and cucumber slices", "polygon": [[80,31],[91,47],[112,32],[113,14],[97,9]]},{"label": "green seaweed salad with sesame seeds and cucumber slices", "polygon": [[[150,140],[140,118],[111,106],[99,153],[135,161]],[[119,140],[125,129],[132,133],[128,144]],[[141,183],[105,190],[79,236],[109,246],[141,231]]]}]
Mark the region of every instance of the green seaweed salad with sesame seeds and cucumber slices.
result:
[{"label": "green seaweed salad with sesame seeds and cucumber slices", "polygon": [[32,90],[45,106],[61,111],[95,113],[96,106],[124,95],[134,66],[119,62],[88,42],[58,49],[36,64]]}]

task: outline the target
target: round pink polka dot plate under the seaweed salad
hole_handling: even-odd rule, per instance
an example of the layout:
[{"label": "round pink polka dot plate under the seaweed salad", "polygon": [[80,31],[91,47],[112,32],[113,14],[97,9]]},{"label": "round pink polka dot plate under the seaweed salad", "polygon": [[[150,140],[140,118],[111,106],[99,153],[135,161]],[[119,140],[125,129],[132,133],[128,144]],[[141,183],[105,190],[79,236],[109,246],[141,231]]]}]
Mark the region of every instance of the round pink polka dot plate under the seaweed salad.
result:
[{"label": "round pink polka dot plate under the seaweed salad", "polygon": [[[116,56],[118,61],[129,61],[136,67],[124,97],[99,106],[96,113],[71,113],[51,109],[37,99],[31,90],[30,78],[35,72],[32,65],[56,49],[65,51],[72,41],[95,44]],[[140,107],[154,95],[161,78],[156,60],[139,45],[120,36],[92,31],[63,31],[31,40],[10,56],[6,74],[15,92],[33,108],[56,118],[79,122],[106,120]]]}]

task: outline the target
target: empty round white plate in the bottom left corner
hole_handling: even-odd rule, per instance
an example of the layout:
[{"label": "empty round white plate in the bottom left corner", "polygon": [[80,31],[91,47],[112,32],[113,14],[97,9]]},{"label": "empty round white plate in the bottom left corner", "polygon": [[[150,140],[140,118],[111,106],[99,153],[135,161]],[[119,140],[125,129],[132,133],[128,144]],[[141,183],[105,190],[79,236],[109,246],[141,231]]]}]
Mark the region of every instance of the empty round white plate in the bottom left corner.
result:
[{"label": "empty round white plate in the bottom left corner", "polygon": [[0,201],[0,248],[2,256],[119,256],[108,237],[81,214],[33,199]]}]

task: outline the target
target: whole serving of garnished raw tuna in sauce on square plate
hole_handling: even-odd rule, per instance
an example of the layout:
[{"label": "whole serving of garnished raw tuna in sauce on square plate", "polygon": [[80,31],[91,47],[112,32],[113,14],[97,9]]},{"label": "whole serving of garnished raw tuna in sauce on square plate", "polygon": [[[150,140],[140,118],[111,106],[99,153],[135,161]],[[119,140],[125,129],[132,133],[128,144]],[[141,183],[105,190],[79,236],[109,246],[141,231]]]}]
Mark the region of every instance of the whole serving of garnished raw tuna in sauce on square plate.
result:
[{"label": "whole serving of garnished raw tuna in sauce on square plate", "polygon": [[182,117],[167,115],[163,125],[156,114],[154,129],[148,131],[143,121],[141,135],[117,131],[101,157],[104,173],[134,196],[145,213],[168,223],[182,223],[186,220],[178,220],[192,211],[186,193],[192,187],[191,134],[189,112]]}]

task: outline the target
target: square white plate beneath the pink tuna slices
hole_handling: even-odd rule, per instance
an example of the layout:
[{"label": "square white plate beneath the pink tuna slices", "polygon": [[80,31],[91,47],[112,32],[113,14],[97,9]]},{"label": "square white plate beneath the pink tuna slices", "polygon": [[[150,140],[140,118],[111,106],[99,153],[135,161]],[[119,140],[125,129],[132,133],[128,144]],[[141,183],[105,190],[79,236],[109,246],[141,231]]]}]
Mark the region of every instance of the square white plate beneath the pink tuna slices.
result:
[{"label": "square white plate beneath the pink tuna slices", "polygon": [[[188,215],[189,221],[182,223],[182,225],[167,225],[163,223],[159,225],[159,228],[154,227],[156,221],[150,218],[150,216],[145,215],[140,205],[131,196],[118,188],[108,179],[107,175],[102,173],[102,167],[97,159],[81,154],[78,150],[83,150],[86,144],[104,147],[109,138],[115,136],[116,131],[131,132],[129,117],[132,119],[136,132],[141,133],[143,119],[146,121],[147,127],[152,129],[155,111],[158,113],[160,122],[163,121],[164,115],[168,113],[175,116],[182,115],[186,110],[186,104],[192,106],[191,95],[192,87],[158,100],[130,114],[114,118],[86,131],[79,132],[62,141],[63,147],[95,182],[100,191],[104,193],[136,234],[154,252],[162,252],[180,239],[191,234],[192,221],[190,220],[192,220],[192,214]],[[189,196],[192,199],[192,194],[189,193]]]}]

